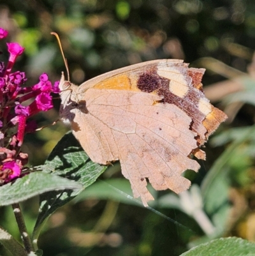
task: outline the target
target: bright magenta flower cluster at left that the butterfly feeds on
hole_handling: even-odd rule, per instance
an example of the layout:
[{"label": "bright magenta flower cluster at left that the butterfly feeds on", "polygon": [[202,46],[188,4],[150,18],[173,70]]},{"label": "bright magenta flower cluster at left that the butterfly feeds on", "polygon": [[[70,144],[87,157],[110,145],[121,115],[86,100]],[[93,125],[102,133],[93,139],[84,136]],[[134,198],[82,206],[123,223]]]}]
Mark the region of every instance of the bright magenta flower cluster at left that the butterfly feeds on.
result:
[{"label": "bright magenta flower cluster at left that the butterfly feeds on", "polygon": [[[0,28],[0,39],[6,36],[8,31]],[[10,54],[8,64],[0,61],[0,185],[22,175],[28,156],[21,152],[20,147],[25,133],[36,130],[36,123],[29,118],[52,109],[50,93],[59,93],[58,82],[52,86],[46,73],[40,76],[38,84],[25,87],[25,73],[11,73],[24,47],[7,43],[7,48]],[[27,100],[32,100],[32,103],[23,105]]]}]

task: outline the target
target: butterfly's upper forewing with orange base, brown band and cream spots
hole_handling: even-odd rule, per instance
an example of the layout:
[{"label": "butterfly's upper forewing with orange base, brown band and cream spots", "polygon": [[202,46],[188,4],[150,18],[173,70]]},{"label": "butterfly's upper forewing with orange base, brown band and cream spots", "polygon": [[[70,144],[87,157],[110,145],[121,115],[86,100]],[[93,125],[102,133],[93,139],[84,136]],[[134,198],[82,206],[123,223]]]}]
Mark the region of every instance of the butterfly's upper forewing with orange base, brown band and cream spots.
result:
[{"label": "butterfly's upper forewing with orange base, brown band and cream spots", "polygon": [[197,133],[201,146],[227,118],[205,97],[201,84],[204,72],[203,68],[188,68],[179,59],[147,61],[99,75],[82,84],[79,91],[93,87],[157,94],[164,103],[176,105],[191,117],[191,130]]}]

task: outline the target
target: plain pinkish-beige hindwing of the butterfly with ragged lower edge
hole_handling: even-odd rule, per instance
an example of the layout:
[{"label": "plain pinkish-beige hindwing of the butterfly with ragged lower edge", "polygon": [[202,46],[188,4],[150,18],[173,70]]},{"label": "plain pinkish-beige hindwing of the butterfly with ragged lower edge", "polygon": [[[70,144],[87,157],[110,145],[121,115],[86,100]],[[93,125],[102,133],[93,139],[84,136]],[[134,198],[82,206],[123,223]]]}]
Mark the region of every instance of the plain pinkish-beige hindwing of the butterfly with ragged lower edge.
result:
[{"label": "plain pinkish-beige hindwing of the butterfly with ragged lower edge", "polygon": [[92,161],[120,160],[122,174],[145,205],[152,200],[147,179],[156,190],[179,193],[189,187],[181,174],[200,165],[188,157],[197,147],[196,133],[182,110],[135,91],[88,89],[84,98],[87,114],[78,110],[72,129]]}]

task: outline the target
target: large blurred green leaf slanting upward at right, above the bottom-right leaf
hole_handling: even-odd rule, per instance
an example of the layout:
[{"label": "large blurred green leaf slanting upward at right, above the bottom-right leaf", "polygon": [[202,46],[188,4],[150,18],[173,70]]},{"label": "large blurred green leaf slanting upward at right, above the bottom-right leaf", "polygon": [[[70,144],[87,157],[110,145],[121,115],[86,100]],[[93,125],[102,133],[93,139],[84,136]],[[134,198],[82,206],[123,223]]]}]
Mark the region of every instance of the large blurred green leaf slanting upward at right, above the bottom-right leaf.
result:
[{"label": "large blurred green leaf slanting upward at right, above the bottom-right leaf", "polygon": [[217,234],[222,235],[226,229],[226,220],[230,213],[230,184],[249,184],[247,170],[252,166],[254,155],[250,140],[255,137],[255,126],[245,129],[214,162],[201,183],[204,209],[212,219]]}]

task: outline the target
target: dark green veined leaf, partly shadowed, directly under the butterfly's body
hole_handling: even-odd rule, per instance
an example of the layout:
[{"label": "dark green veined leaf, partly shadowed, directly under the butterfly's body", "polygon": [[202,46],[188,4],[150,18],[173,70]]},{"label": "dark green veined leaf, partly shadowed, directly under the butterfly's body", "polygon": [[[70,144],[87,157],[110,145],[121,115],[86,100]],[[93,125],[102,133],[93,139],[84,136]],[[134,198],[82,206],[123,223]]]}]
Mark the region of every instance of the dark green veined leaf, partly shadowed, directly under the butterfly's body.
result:
[{"label": "dark green veined leaf, partly shadowed, directly under the butterfly's body", "polygon": [[[94,163],[84,152],[72,133],[62,137],[54,147],[45,165],[41,166],[44,172],[52,176],[62,176],[82,183],[84,188],[96,181],[106,167]],[[34,227],[33,237],[38,237],[45,220],[54,211],[76,197],[81,190],[62,190],[48,192],[40,196],[40,214]]]}]

